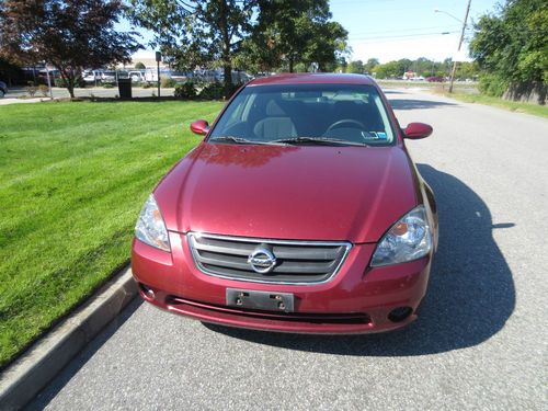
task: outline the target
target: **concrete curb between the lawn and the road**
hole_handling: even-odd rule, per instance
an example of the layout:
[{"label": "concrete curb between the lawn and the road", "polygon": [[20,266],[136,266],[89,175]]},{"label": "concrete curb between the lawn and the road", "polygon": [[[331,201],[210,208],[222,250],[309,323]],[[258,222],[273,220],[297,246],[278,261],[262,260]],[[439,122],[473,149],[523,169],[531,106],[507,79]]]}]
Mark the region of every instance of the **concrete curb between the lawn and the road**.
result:
[{"label": "concrete curb between the lawn and the road", "polygon": [[132,269],[106,283],[89,302],[34,343],[0,376],[0,408],[31,401],[137,295]]}]

